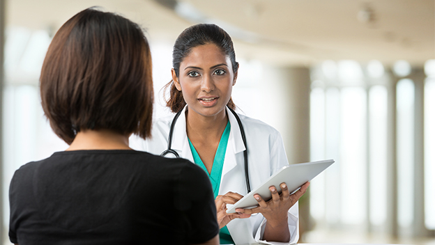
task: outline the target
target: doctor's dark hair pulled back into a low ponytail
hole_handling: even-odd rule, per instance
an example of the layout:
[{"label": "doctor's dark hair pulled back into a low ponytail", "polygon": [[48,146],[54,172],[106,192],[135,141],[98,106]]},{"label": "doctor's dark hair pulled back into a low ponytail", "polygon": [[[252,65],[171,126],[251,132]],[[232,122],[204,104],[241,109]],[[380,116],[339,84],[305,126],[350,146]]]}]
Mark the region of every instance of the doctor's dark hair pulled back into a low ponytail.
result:
[{"label": "doctor's dark hair pulled back into a low ponytail", "polygon": [[[172,66],[177,77],[180,75],[180,63],[190,54],[192,48],[206,44],[214,44],[220,47],[222,52],[229,56],[233,72],[237,72],[238,63],[236,62],[236,53],[234,52],[233,41],[228,33],[215,24],[196,24],[185,29],[178,35],[175,41],[174,51],[172,53]],[[169,88],[170,97],[166,105],[172,112],[181,111],[186,104],[183,93],[176,89],[174,81],[170,81],[165,86],[165,90],[167,88]],[[231,109],[236,109],[236,105],[231,97],[227,106]]]}]

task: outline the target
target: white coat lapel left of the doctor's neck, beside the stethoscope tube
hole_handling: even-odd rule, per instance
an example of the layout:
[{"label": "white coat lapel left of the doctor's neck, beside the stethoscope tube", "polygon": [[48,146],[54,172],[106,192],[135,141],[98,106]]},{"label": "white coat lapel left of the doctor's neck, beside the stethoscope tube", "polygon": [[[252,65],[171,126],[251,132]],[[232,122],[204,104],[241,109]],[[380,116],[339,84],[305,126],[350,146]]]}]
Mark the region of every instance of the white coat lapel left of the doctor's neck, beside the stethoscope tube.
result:
[{"label": "white coat lapel left of the doctor's neck, beside the stethoscope tube", "polygon": [[174,127],[174,134],[172,135],[172,149],[176,150],[181,158],[188,159],[189,161],[193,161],[192,151],[190,151],[188,134],[186,133],[186,124],[185,124],[185,109],[181,111],[180,116],[176,120]]}]

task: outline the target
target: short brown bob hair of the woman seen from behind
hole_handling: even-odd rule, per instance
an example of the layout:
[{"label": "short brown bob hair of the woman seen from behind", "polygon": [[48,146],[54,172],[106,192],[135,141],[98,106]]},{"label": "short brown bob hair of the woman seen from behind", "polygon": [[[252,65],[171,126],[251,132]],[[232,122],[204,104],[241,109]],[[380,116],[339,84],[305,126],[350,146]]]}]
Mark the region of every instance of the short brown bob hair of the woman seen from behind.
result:
[{"label": "short brown bob hair of the woman seen from behind", "polygon": [[151,53],[142,29],[125,17],[88,8],[49,45],[40,75],[42,106],[66,143],[77,132],[111,129],[151,135]]}]

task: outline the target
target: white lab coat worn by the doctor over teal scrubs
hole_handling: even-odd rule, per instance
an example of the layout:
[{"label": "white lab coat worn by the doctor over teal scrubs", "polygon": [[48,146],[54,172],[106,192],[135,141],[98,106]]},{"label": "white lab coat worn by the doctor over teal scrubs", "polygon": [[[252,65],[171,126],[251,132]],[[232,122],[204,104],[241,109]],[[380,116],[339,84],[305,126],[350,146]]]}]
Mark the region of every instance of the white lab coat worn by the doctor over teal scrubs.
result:
[{"label": "white lab coat worn by the doctor over teal scrubs", "polygon": [[[227,114],[231,124],[231,132],[225,153],[219,194],[223,195],[232,191],[245,196],[247,194],[243,158],[245,146],[236,117],[229,109],[227,109]],[[247,116],[239,115],[239,117],[246,134],[250,186],[251,189],[255,189],[270,175],[289,163],[281,135],[276,129]],[[169,128],[173,118],[174,116],[169,116],[156,120],[153,123],[152,138],[142,141],[142,145],[133,143],[130,146],[137,148],[137,150],[145,150],[160,155],[164,150],[167,150]],[[186,134],[185,109],[176,121],[171,148],[176,150],[180,157],[194,162]],[[266,219],[261,214],[252,215],[248,219],[234,219],[228,223],[227,228],[236,244],[296,244],[299,239],[298,203],[291,207],[288,216],[291,235],[289,243],[261,240],[266,224]]]}]

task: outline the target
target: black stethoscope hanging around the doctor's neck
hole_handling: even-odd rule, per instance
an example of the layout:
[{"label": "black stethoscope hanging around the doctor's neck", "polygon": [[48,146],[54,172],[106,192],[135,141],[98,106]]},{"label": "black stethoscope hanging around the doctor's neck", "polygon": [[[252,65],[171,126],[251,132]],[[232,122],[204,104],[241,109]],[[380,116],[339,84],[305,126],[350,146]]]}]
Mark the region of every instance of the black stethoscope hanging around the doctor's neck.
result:
[{"label": "black stethoscope hanging around the doctor's neck", "polygon": [[[245,179],[246,179],[247,193],[250,193],[251,192],[251,187],[250,187],[249,173],[247,171],[247,145],[246,145],[245,129],[243,129],[242,121],[238,117],[236,111],[234,111],[233,109],[231,109],[229,107],[228,107],[228,109],[236,117],[236,120],[237,120],[237,123],[238,123],[238,127],[240,127],[240,130],[241,130],[243,144],[245,145],[245,150],[243,150],[243,157],[245,158]],[[183,111],[183,110],[181,110],[181,111]],[[178,119],[178,117],[180,116],[181,111],[178,111],[175,114],[174,119],[172,119],[171,127],[169,129],[168,147],[167,147],[167,150],[165,150],[164,152],[162,152],[162,154],[160,154],[160,156],[162,156],[162,157],[165,157],[168,154],[172,154],[176,158],[180,158],[180,155],[178,155],[178,153],[175,150],[172,150],[171,145],[172,145],[172,133],[174,132],[175,122]]]}]

